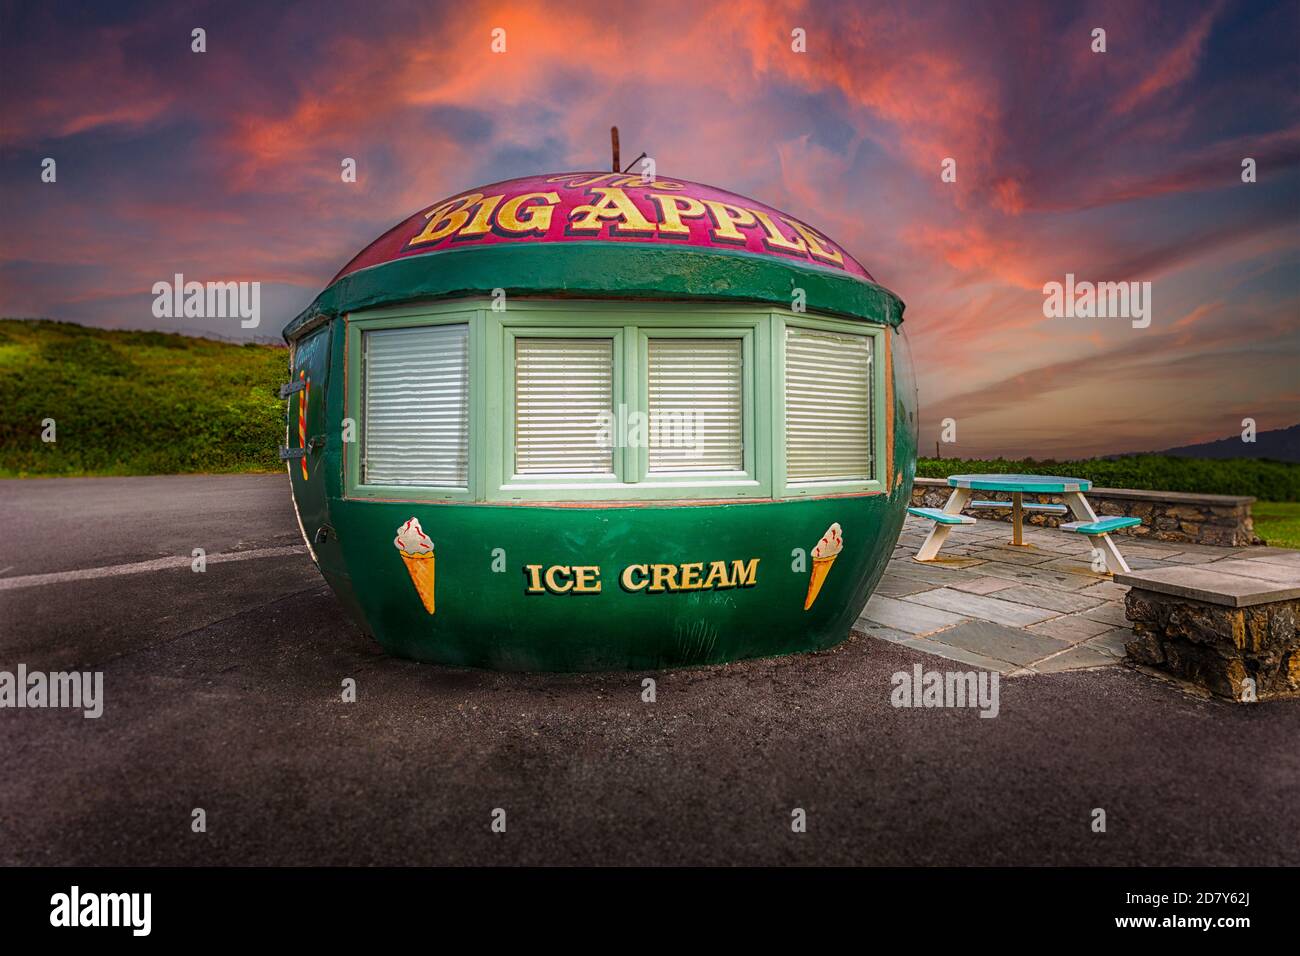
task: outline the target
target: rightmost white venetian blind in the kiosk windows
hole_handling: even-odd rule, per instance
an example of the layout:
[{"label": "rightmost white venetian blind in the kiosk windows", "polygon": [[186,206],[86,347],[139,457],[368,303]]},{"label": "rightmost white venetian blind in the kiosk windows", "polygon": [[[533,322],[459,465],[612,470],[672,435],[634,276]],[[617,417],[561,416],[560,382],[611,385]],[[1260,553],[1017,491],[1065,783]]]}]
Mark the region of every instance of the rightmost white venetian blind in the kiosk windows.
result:
[{"label": "rightmost white venetian blind in the kiosk windows", "polygon": [[786,481],[870,479],[871,339],[785,329]]}]

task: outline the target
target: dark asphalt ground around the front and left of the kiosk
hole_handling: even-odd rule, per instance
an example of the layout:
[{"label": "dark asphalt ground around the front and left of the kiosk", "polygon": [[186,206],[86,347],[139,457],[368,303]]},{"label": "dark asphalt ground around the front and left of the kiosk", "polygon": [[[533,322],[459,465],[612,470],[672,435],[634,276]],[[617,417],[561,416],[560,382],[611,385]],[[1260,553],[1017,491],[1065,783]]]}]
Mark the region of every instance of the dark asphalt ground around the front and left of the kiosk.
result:
[{"label": "dark asphalt ground around the front and left of the kiosk", "polygon": [[894,672],[956,665],[864,636],[656,674],[400,661],[285,475],[0,481],[0,671],[104,675],[99,719],[0,709],[0,864],[1300,864],[1300,701],[1110,667],[1004,679],[993,719],[894,708]]}]

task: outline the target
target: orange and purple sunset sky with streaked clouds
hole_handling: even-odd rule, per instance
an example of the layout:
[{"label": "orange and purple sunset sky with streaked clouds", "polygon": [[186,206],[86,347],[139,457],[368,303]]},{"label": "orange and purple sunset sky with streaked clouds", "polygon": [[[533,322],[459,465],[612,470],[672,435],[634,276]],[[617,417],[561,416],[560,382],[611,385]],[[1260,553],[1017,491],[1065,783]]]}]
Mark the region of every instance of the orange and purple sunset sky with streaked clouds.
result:
[{"label": "orange and purple sunset sky with streaked clouds", "polygon": [[[607,169],[616,124],[625,163],[790,212],[902,297],[923,453],[945,418],[945,457],[1037,458],[1300,420],[1295,0],[0,10],[0,316],[247,334],[155,319],[183,273],[260,281],[277,336],[398,220]],[[1066,273],[1149,281],[1149,328],[1044,319]]]}]

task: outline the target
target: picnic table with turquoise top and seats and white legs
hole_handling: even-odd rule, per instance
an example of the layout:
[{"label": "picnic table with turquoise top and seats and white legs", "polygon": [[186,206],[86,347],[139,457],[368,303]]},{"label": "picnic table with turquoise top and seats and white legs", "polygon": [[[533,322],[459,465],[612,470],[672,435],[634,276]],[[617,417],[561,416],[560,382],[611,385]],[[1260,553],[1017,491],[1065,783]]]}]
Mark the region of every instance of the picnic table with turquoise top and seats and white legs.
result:
[{"label": "picnic table with turquoise top and seats and white legs", "polygon": [[[1112,531],[1132,528],[1141,524],[1140,518],[1098,518],[1083,493],[1092,489],[1087,479],[1061,477],[1057,475],[950,475],[948,484],[953,493],[941,509],[911,507],[907,511],[935,523],[930,535],[916,551],[916,561],[933,561],[939,549],[952,529],[959,524],[974,524],[975,519],[963,515],[966,507],[1006,507],[1005,501],[971,501],[975,492],[1002,492],[1011,496],[1011,545],[1024,548],[1024,512],[1066,514],[1075,520],[1060,525],[1061,531],[1072,531],[1089,536],[1106,559],[1106,570],[1112,574],[1128,572],[1128,563],[1110,537]],[[1063,505],[1024,502],[1026,494],[1058,494]]]}]

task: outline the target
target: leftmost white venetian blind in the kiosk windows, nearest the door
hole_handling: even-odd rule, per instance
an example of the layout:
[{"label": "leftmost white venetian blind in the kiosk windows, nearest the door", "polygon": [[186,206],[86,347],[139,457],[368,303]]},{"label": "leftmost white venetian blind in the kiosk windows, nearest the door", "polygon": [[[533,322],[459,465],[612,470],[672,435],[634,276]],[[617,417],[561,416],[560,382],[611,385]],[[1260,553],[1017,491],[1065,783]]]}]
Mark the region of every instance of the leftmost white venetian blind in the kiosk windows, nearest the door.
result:
[{"label": "leftmost white venetian blind in the kiosk windows, nearest the door", "polygon": [[367,332],[363,475],[374,485],[469,484],[469,326]]}]

